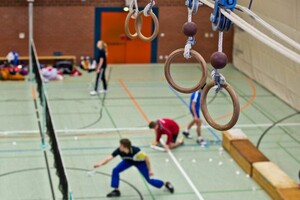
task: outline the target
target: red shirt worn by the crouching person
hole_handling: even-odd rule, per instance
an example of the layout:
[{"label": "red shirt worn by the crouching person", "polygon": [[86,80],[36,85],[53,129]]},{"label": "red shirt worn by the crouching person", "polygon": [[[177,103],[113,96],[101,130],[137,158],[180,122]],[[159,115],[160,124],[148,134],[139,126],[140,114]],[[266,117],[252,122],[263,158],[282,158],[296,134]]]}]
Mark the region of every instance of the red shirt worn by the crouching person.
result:
[{"label": "red shirt worn by the crouching person", "polygon": [[156,130],[156,142],[159,142],[161,135],[166,134],[167,144],[170,144],[173,140],[173,135],[178,135],[179,133],[179,126],[178,124],[172,119],[159,119],[157,120],[158,129]]}]

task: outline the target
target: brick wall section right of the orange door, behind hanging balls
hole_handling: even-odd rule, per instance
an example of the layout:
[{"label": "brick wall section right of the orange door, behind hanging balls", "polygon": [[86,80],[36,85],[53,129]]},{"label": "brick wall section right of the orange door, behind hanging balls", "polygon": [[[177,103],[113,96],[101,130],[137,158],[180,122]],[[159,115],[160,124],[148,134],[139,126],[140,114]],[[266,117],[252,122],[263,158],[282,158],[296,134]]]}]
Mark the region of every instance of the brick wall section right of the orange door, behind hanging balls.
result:
[{"label": "brick wall section right of the orange door, behind hanging balls", "polygon": [[[175,49],[185,46],[187,37],[182,33],[182,25],[187,21],[187,10],[186,7],[160,7],[159,9],[158,62],[164,62],[160,60],[160,56],[165,57]],[[201,7],[198,13],[193,15],[193,21],[198,27],[196,45],[193,49],[197,50],[207,61],[210,55],[218,49],[218,32],[212,30],[209,21],[211,12],[210,8]],[[161,33],[164,33],[164,37]],[[205,37],[206,35],[208,37]],[[232,30],[224,34],[223,50],[230,61],[232,60],[232,38]],[[184,58],[178,61],[184,61]]]}]

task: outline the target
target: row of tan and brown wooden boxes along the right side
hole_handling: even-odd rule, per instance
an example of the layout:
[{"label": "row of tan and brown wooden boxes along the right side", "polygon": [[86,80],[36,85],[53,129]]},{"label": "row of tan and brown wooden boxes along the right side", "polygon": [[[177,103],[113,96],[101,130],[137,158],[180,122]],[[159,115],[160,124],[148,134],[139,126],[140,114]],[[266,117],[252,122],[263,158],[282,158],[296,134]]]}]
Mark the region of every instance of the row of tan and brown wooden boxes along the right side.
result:
[{"label": "row of tan and brown wooden boxes along the right side", "polygon": [[223,131],[222,136],[223,147],[272,199],[300,199],[300,188],[295,181],[270,162],[240,129]]}]

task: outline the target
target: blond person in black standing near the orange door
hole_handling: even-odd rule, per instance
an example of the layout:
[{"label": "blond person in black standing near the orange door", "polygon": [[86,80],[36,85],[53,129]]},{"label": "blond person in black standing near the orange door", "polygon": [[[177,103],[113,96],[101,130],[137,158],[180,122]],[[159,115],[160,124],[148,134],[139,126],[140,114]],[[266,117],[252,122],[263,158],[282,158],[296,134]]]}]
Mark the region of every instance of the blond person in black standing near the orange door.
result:
[{"label": "blond person in black standing near the orange door", "polygon": [[103,83],[103,90],[100,91],[100,93],[106,93],[107,92],[107,83],[105,79],[105,70],[107,67],[106,57],[107,57],[107,44],[103,42],[102,40],[98,41],[97,43],[98,47],[98,53],[96,55],[96,82],[95,82],[95,88],[93,91],[90,92],[90,95],[94,96],[98,94],[98,86],[99,86],[99,79],[101,78]]}]

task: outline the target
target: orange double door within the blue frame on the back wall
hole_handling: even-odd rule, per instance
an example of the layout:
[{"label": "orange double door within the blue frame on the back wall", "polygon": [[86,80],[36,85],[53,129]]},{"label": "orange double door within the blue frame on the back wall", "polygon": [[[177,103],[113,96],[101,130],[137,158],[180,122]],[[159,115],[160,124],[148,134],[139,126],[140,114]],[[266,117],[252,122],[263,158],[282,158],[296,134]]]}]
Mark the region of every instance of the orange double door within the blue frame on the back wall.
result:
[{"label": "orange double door within the blue frame on the back wall", "polygon": [[[126,37],[124,23],[127,12],[101,13],[101,39],[108,45],[109,63],[150,63],[151,43],[140,39],[131,40]],[[151,35],[151,18],[143,18],[143,34]],[[130,21],[133,32],[134,20]]]}]

